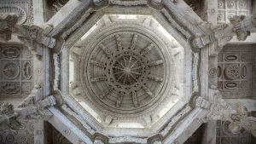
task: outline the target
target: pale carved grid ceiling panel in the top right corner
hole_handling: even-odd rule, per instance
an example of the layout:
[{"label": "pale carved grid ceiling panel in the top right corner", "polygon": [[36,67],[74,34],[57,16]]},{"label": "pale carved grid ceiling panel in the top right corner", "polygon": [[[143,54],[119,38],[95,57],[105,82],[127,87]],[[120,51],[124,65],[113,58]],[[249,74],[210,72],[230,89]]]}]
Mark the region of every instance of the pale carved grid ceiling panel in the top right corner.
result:
[{"label": "pale carved grid ceiling panel in the top right corner", "polygon": [[251,0],[218,0],[218,23],[230,23],[235,15],[251,14]]}]

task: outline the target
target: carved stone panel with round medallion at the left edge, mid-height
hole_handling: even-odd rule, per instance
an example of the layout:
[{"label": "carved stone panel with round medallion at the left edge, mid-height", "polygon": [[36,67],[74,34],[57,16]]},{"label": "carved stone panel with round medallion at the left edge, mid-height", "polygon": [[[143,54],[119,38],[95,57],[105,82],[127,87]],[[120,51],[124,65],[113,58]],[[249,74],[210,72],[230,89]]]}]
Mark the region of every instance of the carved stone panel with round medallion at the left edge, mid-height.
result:
[{"label": "carved stone panel with round medallion at the left edge, mid-height", "polygon": [[32,54],[23,45],[0,45],[0,97],[24,97],[32,90]]}]

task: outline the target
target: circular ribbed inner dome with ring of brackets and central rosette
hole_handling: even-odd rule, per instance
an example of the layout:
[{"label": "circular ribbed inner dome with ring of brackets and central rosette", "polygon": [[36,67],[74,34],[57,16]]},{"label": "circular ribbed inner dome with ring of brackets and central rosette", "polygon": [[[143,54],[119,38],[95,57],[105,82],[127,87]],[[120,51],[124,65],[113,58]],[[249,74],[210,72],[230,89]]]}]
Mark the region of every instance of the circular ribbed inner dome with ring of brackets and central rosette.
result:
[{"label": "circular ribbed inner dome with ring of brackets and central rosette", "polygon": [[[84,53],[86,89],[110,111],[143,111],[160,98],[166,61],[157,43],[141,32],[109,32]],[[88,87],[90,85],[90,87]]]}]

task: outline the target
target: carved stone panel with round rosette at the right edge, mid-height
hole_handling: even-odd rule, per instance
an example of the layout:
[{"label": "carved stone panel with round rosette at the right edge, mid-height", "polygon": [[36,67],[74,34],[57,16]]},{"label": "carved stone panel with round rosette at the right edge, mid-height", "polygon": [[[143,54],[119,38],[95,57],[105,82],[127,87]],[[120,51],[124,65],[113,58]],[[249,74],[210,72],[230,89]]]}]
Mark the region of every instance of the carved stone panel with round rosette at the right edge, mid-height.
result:
[{"label": "carved stone panel with round rosette at the right edge, mid-height", "polygon": [[253,96],[253,46],[226,46],[218,54],[218,89],[224,98]]}]

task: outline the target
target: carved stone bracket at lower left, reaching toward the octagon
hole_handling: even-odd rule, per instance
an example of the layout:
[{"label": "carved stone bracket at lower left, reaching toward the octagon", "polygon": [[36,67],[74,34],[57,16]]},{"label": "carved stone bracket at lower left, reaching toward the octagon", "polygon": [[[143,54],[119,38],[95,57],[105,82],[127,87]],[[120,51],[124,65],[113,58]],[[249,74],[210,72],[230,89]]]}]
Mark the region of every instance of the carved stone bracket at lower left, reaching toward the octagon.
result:
[{"label": "carved stone bracket at lower left, reaching toward the octagon", "polygon": [[52,115],[47,111],[48,107],[61,107],[64,101],[60,91],[54,95],[44,95],[40,85],[35,85],[32,93],[14,109],[12,104],[4,102],[0,107],[0,125],[7,126],[10,130],[19,130],[20,119],[47,120]]}]

